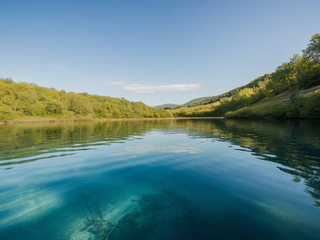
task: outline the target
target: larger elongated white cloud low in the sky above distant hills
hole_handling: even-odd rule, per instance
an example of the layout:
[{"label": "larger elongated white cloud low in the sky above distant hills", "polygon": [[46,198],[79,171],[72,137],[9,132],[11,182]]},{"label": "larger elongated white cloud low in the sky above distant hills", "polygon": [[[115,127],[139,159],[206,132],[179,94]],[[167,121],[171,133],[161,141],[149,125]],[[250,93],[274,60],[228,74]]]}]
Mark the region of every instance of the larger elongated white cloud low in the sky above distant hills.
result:
[{"label": "larger elongated white cloud low in the sky above distant hills", "polygon": [[173,91],[190,91],[201,88],[200,84],[172,84],[172,85],[144,85],[144,84],[132,84],[123,86],[122,89],[126,91],[136,93],[146,92],[173,92]]}]

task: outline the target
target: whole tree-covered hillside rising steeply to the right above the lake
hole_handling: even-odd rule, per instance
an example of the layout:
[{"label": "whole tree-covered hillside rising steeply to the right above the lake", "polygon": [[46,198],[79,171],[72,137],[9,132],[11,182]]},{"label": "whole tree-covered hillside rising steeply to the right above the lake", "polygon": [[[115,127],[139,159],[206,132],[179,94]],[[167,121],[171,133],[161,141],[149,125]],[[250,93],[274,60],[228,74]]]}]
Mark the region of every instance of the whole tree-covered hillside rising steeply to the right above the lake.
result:
[{"label": "whole tree-covered hillside rising steeply to the right above the lake", "polygon": [[[320,118],[320,34],[312,36],[303,55],[294,54],[271,74],[224,94],[207,98],[173,116],[252,118]],[[219,102],[216,105],[209,105]],[[208,107],[201,107],[206,106]]]}]

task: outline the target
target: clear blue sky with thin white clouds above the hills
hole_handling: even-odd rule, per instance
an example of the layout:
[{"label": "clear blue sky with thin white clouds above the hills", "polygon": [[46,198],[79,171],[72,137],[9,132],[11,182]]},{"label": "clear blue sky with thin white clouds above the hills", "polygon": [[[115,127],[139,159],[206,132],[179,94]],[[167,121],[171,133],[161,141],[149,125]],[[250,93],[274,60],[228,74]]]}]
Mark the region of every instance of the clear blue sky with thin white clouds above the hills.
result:
[{"label": "clear blue sky with thin white clouds above the hills", "polygon": [[0,77],[149,106],[270,73],[320,32],[320,1],[0,1]]}]

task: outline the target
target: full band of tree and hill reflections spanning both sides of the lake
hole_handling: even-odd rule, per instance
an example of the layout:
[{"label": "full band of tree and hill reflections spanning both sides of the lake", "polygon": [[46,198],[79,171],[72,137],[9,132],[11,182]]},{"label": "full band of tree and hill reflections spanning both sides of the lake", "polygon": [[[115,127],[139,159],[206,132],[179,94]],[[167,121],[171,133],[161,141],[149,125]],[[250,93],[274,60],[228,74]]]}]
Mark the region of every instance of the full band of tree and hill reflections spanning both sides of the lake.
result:
[{"label": "full band of tree and hill reflections spanning both sides of the lake", "polygon": [[[255,155],[294,169],[279,168],[291,174],[295,182],[303,179],[307,186],[305,191],[315,198],[320,198],[319,126],[316,120],[237,119],[150,119],[1,125],[0,160],[36,156],[43,154],[42,150],[51,150],[54,153],[55,148],[62,147],[77,150],[82,147],[85,150],[89,149],[88,146],[94,148],[95,145],[134,140],[132,136],[143,136],[153,130],[177,132],[196,138],[228,140],[244,148],[250,146]],[[83,148],[88,142],[96,144]],[[59,149],[56,152],[60,151]]]}]

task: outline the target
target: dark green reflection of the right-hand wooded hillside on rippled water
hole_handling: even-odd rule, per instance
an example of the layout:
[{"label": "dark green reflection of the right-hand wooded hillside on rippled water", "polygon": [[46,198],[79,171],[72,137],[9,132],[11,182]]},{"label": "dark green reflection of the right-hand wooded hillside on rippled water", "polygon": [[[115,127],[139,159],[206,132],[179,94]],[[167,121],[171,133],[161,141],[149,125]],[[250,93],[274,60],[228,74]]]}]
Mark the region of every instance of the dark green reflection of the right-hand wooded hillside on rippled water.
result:
[{"label": "dark green reflection of the right-hand wooded hillside on rippled water", "polygon": [[203,119],[188,120],[185,128],[192,132],[190,135],[193,137],[220,138],[243,148],[250,146],[254,155],[293,168],[294,170],[278,167],[291,174],[294,182],[304,179],[307,186],[305,191],[320,199],[319,121]]}]

